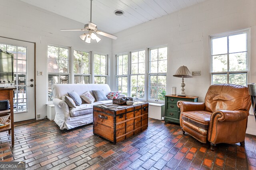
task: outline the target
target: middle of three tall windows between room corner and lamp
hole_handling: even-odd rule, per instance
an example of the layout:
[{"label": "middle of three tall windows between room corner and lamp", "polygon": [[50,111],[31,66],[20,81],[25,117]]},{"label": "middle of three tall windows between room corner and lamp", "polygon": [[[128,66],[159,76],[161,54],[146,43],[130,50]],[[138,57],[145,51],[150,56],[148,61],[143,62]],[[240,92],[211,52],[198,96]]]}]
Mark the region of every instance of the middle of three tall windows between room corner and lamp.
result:
[{"label": "middle of three tall windows between room corner and lamp", "polygon": [[131,52],[130,87],[131,97],[145,99],[145,50]]}]

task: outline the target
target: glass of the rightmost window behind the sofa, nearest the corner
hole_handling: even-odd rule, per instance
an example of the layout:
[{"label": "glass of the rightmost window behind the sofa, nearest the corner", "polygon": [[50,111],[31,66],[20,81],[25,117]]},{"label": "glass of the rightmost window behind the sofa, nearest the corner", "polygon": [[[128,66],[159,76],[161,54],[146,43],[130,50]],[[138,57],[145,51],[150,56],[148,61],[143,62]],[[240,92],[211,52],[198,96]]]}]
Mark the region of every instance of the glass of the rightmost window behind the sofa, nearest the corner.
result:
[{"label": "glass of the rightmost window behind the sofa, nearest the corner", "polygon": [[108,82],[108,56],[94,54],[94,83],[106,84]]}]

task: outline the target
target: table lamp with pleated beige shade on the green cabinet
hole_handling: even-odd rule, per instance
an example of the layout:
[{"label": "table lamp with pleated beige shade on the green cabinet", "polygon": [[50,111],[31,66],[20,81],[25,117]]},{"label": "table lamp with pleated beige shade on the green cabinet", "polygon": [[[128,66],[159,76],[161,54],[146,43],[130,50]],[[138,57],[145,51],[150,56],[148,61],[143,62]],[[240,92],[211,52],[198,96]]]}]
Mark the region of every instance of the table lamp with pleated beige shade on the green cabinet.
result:
[{"label": "table lamp with pleated beige shade on the green cabinet", "polygon": [[180,68],[178,68],[178,70],[175,72],[175,74],[173,75],[174,77],[182,77],[182,83],[180,84],[180,94],[178,96],[182,96],[185,97],[186,93],[185,93],[185,83],[184,83],[184,78],[191,78],[193,77],[190,73],[190,71],[188,70],[188,68],[186,66],[180,66]]}]

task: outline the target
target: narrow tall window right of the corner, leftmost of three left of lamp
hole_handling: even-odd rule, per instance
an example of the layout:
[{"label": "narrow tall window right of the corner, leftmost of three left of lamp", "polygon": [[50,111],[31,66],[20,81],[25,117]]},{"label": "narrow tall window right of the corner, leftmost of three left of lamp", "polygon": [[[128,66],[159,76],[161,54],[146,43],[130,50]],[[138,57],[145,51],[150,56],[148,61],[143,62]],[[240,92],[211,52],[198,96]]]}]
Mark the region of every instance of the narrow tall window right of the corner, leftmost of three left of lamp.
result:
[{"label": "narrow tall window right of the corner, leftmost of three left of lamp", "polygon": [[128,96],[128,54],[116,57],[116,79],[118,92]]}]

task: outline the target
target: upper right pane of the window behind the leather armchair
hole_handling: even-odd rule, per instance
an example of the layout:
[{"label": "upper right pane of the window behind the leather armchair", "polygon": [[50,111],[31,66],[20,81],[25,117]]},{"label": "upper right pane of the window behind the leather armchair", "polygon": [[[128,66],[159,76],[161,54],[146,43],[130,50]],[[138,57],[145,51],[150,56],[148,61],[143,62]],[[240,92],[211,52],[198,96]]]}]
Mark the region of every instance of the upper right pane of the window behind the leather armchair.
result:
[{"label": "upper right pane of the window behind the leather armchair", "polygon": [[228,37],[229,53],[247,51],[246,33]]}]

